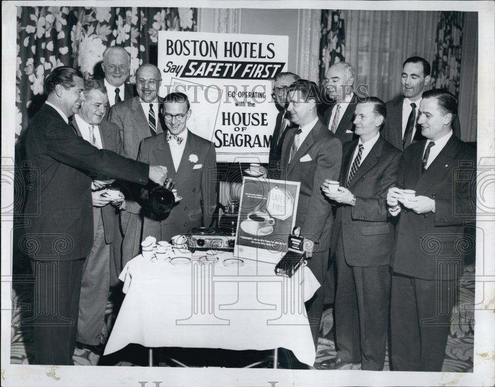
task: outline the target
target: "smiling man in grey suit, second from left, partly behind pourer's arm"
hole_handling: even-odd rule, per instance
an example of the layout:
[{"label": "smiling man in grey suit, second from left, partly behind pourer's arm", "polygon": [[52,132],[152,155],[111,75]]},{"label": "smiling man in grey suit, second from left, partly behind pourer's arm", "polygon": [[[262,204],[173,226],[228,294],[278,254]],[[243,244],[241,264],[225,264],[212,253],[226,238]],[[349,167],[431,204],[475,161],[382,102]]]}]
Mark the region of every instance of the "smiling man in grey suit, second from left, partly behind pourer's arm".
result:
[{"label": "smiling man in grey suit, second from left, partly behind pourer's arm", "polygon": [[[83,106],[71,117],[77,134],[99,149],[121,154],[122,140],[117,125],[103,119],[108,108],[103,82],[92,79],[85,81],[84,96],[86,100]],[[113,277],[113,281],[116,281],[115,254],[111,243],[119,227],[117,208],[122,205],[124,195],[120,193],[118,198],[110,198],[106,189],[99,189],[93,190],[92,196],[95,236],[91,253],[83,265],[76,346],[100,355],[101,328],[104,324],[110,278]]]}]

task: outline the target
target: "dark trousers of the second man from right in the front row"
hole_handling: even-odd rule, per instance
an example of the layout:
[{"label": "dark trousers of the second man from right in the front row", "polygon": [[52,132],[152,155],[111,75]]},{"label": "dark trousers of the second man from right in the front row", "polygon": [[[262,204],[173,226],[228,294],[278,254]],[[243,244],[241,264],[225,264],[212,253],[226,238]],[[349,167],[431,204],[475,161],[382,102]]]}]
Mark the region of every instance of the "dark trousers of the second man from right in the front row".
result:
[{"label": "dark trousers of the second man from right in the front row", "polygon": [[337,357],[381,371],[389,321],[390,266],[349,266],[342,238],[337,244],[335,334]]}]

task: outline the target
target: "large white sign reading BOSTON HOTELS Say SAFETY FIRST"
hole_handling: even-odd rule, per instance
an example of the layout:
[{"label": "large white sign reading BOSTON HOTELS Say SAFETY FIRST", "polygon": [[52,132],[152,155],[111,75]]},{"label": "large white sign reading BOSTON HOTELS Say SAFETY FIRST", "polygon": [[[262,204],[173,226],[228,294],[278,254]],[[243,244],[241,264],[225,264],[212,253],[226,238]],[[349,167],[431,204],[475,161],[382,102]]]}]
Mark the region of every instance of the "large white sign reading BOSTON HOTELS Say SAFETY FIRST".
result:
[{"label": "large white sign reading BOSTON HOTELS Say SAFETY FIRST", "polygon": [[277,108],[271,96],[287,71],[287,36],[159,31],[160,95],[191,102],[187,126],[215,144],[218,161],[268,162]]}]

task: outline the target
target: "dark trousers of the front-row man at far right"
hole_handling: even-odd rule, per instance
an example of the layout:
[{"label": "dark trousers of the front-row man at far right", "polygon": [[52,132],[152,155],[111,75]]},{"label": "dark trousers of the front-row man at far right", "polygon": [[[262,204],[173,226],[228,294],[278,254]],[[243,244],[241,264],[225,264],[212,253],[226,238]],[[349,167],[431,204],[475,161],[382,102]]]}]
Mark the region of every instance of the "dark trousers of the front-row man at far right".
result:
[{"label": "dark trousers of the front-row man at far right", "polygon": [[394,371],[442,371],[457,281],[394,273],[391,358]]}]

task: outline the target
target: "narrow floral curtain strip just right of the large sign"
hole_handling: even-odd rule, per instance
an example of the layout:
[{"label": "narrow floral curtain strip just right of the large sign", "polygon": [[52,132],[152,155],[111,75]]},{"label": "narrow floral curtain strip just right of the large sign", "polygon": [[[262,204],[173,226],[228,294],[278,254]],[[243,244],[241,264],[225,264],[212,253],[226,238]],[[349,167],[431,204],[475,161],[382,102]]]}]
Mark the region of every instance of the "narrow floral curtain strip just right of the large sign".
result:
[{"label": "narrow floral curtain strip just right of the large sign", "polygon": [[323,9],[321,11],[320,83],[330,66],[336,62],[346,61],[345,41],[344,15],[341,10]]}]

